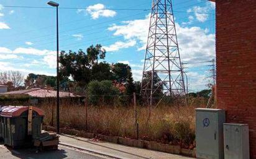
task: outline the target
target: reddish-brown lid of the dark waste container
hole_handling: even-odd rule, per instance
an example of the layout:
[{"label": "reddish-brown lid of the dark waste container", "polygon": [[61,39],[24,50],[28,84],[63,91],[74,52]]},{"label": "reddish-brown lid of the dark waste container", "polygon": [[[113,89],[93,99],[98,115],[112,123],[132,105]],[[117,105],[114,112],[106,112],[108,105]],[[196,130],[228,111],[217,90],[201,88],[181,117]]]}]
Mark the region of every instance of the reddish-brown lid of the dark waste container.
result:
[{"label": "reddish-brown lid of the dark waste container", "polygon": [[[1,108],[1,116],[15,117],[21,116],[24,111],[28,111],[29,106],[4,106]],[[43,116],[43,111],[39,108],[33,107],[33,111],[37,112],[39,116]]]}]

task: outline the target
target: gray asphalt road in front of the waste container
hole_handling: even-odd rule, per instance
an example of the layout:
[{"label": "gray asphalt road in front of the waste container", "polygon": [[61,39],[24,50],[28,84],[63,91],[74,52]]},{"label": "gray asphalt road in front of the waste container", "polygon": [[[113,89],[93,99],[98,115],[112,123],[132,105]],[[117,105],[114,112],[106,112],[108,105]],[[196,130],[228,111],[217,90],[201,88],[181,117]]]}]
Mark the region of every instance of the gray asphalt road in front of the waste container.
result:
[{"label": "gray asphalt road in front of the waste container", "polygon": [[60,145],[58,150],[36,153],[35,148],[22,148],[12,150],[0,145],[0,158],[4,159],[110,159],[109,157],[100,156],[94,153],[89,153],[77,150],[71,147]]}]

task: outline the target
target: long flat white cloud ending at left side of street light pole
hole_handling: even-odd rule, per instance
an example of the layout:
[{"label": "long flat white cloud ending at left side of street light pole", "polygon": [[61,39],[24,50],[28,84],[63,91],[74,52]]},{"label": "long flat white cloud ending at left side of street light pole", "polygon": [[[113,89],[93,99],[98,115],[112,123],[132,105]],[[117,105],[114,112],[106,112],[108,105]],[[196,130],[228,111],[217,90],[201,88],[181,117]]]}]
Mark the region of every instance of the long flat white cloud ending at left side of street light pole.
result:
[{"label": "long flat white cloud ending at left side of street light pole", "polygon": [[33,54],[38,56],[55,54],[55,51],[50,51],[48,49],[35,49],[35,48],[16,48],[12,51],[14,54]]}]

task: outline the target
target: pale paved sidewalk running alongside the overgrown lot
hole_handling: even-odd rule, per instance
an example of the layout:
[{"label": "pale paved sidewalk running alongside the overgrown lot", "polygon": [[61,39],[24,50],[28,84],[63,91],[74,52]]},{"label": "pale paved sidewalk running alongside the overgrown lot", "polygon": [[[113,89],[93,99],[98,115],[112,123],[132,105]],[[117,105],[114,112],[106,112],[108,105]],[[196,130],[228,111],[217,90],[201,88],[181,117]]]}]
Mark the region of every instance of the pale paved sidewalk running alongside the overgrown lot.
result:
[{"label": "pale paved sidewalk running alongside the overgrown lot", "polygon": [[[73,139],[75,138],[75,139]],[[119,144],[112,144],[103,141],[93,141],[82,137],[74,137],[71,135],[60,135],[60,144],[68,145],[75,148],[88,150],[89,152],[99,153],[114,158],[128,159],[191,159],[170,153],[157,152],[143,148],[127,147]]]}]

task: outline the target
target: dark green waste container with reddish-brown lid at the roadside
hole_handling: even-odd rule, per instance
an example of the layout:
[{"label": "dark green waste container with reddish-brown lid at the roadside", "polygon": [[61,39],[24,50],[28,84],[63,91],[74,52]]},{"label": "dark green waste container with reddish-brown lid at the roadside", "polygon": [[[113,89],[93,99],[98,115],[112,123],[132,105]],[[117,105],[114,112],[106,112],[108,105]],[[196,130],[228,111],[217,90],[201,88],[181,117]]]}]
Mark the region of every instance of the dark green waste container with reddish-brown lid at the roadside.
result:
[{"label": "dark green waste container with reddish-brown lid at the roadside", "polygon": [[4,106],[1,108],[1,136],[4,144],[13,148],[32,145],[41,134],[43,111],[33,107],[32,132],[28,134],[28,106]]}]

